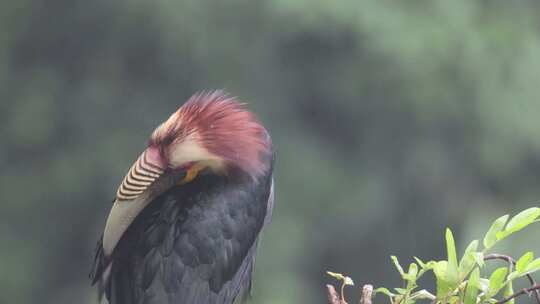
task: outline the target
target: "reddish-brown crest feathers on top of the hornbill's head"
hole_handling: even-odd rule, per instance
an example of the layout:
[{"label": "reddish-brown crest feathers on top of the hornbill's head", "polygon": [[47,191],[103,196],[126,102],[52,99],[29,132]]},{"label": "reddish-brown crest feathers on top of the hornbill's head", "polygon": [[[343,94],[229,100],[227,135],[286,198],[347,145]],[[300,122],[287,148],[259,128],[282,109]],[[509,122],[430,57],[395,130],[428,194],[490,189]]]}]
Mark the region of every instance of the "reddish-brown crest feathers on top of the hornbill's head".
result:
[{"label": "reddish-brown crest feathers on top of the hornbill's head", "polygon": [[171,119],[166,131],[151,141],[167,146],[195,133],[202,147],[252,176],[270,165],[268,132],[243,103],[224,91],[193,95]]}]

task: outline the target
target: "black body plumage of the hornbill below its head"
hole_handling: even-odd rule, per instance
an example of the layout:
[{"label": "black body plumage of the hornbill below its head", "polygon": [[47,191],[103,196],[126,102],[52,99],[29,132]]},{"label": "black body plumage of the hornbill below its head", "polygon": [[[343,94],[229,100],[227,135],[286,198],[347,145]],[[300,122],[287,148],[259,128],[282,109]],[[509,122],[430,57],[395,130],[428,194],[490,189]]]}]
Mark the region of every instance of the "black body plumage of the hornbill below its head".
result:
[{"label": "black body plumage of the hornbill below its head", "polygon": [[258,235],[272,208],[271,167],[253,179],[201,174],[136,217],[110,258],[98,246],[93,281],[110,304],[233,303],[249,293]]}]

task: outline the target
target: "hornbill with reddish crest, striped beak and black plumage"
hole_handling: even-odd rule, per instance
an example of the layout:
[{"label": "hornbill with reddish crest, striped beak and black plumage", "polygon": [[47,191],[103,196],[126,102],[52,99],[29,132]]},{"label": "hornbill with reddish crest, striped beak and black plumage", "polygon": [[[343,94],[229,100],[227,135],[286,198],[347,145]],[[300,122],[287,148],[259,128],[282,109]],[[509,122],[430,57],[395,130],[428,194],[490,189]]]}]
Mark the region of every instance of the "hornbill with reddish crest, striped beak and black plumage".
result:
[{"label": "hornbill with reddish crest, striped beak and black plumage", "polygon": [[244,300],[273,207],[272,143],[222,91],[152,133],[116,192],[90,277],[110,304]]}]

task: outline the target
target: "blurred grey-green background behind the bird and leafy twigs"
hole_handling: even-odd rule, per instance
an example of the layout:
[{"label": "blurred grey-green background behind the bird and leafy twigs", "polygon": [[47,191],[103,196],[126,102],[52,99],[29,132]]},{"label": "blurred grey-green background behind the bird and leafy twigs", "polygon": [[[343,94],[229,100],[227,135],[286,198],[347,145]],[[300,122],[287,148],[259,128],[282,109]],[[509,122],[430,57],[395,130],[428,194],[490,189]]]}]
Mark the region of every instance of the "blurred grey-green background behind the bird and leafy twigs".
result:
[{"label": "blurred grey-green background behind the bird and leafy twigs", "polygon": [[0,303],[95,303],[117,184],[212,88],[278,153],[252,303],[324,303],[325,270],[396,286],[390,254],[539,205],[539,80],[534,0],[1,1]]}]

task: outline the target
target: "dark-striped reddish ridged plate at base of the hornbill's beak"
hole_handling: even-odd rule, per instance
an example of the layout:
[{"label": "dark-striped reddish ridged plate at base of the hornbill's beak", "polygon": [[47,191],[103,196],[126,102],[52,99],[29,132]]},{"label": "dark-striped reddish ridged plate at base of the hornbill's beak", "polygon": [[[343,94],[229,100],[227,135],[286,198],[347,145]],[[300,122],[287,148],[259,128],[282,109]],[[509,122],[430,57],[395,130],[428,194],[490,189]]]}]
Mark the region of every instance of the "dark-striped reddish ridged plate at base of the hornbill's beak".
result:
[{"label": "dark-striped reddish ridged plate at base of the hornbill's beak", "polygon": [[116,191],[119,201],[134,200],[165,172],[166,165],[156,147],[147,148],[135,161]]}]

